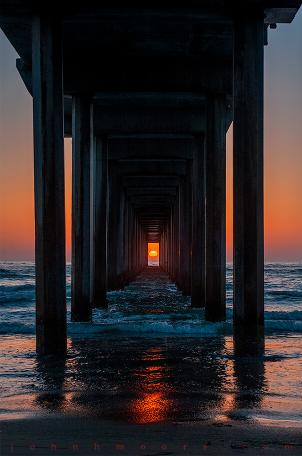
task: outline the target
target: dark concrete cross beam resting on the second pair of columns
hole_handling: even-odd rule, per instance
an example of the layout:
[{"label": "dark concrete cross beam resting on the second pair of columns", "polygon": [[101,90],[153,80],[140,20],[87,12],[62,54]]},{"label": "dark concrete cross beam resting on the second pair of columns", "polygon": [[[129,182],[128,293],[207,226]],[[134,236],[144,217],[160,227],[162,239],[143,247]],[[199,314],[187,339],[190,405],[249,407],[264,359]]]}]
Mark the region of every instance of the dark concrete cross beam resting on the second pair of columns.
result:
[{"label": "dark concrete cross beam resting on the second pair of columns", "polygon": [[[220,6],[218,6],[219,8]],[[195,12],[194,21],[196,21]],[[177,24],[175,27],[177,29]],[[87,81],[91,81],[96,92],[105,90],[106,92],[188,91],[201,93],[209,83],[209,60],[207,59],[169,55],[121,55],[117,61],[115,56],[102,56],[100,59],[95,58],[95,54],[93,54],[89,56],[89,59],[85,58],[79,68],[76,65],[78,53],[74,51],[75,49],[72,49],[69,55],[66,55],[64,81],[66,80],[65,90],[67,92],[78,88],[87,90]],[[106,68],[105,71],[104,68]],[[223,74],[222,91],[231,91],[231,59],[220,60],[218,71]]]}]

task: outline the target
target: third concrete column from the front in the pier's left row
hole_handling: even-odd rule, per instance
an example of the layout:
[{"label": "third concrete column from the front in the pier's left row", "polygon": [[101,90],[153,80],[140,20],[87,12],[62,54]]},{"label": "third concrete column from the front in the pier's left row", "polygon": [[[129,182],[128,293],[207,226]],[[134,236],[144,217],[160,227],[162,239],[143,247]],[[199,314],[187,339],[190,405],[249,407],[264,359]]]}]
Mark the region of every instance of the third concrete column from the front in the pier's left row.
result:
[{"label": "third concrete column from the front in the pier's left row", "polygon": [[93,233],[91,295],[94,307],[106,308],[107,276],[107,137],[95,136],[93,156]]}]

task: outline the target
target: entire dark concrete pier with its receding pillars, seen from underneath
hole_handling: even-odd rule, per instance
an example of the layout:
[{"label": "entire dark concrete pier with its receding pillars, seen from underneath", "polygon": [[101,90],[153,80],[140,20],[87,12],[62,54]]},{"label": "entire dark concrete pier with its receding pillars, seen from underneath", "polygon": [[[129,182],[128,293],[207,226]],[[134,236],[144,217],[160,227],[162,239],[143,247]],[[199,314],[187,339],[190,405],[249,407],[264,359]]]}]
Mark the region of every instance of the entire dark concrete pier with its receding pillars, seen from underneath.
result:
[{"label": "entire dark concrete pier with its receding pillars, seen from underneath", "polygon": [[226,132],[233,121],[234,349],[264,352],[263,55],[295,0],[144,8],[2,0],[33,96],[36,342],[66,351],[63,138],[72,137],[72,321],[159,266],[224,321]]}]

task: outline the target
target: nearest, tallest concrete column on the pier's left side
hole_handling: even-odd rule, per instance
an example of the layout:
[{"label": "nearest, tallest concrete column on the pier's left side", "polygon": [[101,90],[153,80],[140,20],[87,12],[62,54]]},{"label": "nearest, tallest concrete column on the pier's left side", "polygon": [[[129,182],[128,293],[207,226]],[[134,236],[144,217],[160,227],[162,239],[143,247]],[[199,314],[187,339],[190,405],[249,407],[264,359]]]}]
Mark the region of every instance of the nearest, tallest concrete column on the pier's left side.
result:
[{"label": "nearest, tallest concrete column on the pier's left side", "polygon": [[66,352],[61,24],[32,19],[36,350]]}]

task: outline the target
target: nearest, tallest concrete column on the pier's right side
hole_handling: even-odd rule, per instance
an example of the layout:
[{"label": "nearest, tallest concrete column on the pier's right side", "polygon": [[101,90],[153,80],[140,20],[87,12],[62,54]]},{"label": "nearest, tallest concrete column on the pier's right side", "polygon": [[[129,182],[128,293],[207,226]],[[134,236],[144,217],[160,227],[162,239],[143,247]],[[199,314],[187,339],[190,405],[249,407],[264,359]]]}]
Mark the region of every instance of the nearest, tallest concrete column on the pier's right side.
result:
[{"label": "nearest, tallest concrete column on the pier's right side", "polygon": [[234,348],[264,353],[263,12],[234,20]]}]

